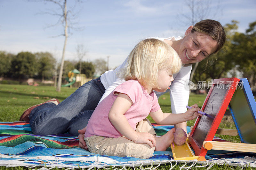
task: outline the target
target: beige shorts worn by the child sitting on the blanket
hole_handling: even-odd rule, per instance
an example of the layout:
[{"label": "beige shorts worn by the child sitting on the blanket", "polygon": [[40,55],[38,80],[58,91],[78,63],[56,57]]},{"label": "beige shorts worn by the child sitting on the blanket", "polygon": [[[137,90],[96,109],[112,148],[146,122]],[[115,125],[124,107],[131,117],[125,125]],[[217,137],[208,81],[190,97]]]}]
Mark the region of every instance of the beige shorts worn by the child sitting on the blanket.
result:
[{"label": "beige shorts worn by the child sitting on the blanket", "polygon": [[[137,123],[136,131],[148,132],[156,135],[156,132],[148,119],[143,119]],[[136,144],[124,137],[112,138],[94,135],[86,137],[84,140],[90,152],[100,155],[148,159],[153,156],[155,150],[155,147],[150,148],[148,144]]]}]

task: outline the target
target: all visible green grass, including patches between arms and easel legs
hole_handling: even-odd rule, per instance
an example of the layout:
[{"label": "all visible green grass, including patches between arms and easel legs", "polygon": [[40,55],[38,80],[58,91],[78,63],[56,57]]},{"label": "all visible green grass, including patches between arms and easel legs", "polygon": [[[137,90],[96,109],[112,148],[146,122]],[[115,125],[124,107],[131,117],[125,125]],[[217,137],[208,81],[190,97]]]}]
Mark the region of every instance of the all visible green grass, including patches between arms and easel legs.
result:
[{"label": "all visible green grass, including patches between arms and easel legs", "polygon": [[[61,92],[56,92],[55,88],[52,86],[28,86],[28,85],[3,85],[0,84],[0,122],[13,122],[19,121],[20,115],[26,110],[28,107],[32,105],[36,105],[44,102],[45,100],[51,98],[57,98],[59,101],[66,99],[72,92],[74,92],[76,88],[68,88],[62,87]],[[189,97],[188,105],[198,104],[199,107],[202,107],[204,103],[206,95],[197,95],[191,94]],[[159,104],[163,110],[163,112],[171,112],[171,104],[170,104],[170,96],[169,94],[164,94],[159,98]],[[151,122],[153,120],[149,118]],[[188,126],[193,126],[195,120],[188,121]],[[220,125],[221,128],[226,129],[236,129],[235,125],[232,121],[231,116],[224,116]],[[238,136],[230,137],[230,136],[220,136],[223,139],[229,140],[231,142],[240,142]],[[178,164],[175,166],[175,170],[180,169],[184,164]],[[149,168],[150,166],[144,166],[144,168]],[[155,167],[155,166],[154,166]],[[188,166],[186,166],[188,167]],[[208,167],[208,166],[207,166]],[[195,168],[191,169],[207,169],[207,167]],[[161,165],[158,166],[157,169],[170,169],[171,165]],[[0,170],[2,169],[30,169],[26,167],[9,167],[0,166]],[[54,168],[59,169],[59,168]],[[96,168],[94,168],[96,169]],[[127,167],[127,169],[133,169]],[[140,169],[137,167],[136,169]],[[226,165],[214,165],[211,169],[240,169],[239,167],[226,166]],[[253,169],[251,167],[244,169]],[[254,168],[256,169],[256,168]]]}]

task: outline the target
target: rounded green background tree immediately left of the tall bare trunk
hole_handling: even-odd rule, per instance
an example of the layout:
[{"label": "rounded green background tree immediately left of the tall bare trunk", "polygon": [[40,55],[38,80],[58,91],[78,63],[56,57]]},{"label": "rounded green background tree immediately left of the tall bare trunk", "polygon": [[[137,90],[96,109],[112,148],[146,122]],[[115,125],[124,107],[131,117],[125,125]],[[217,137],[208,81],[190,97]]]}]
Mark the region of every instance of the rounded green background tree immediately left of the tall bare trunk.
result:
[{"label": "rounded green background tree immediately left of the tall bare trunk", "polygon": [[38,76],[44,79],[52,78],[54,75],[56,60],[49,52],[35,53],[38,66]]}]

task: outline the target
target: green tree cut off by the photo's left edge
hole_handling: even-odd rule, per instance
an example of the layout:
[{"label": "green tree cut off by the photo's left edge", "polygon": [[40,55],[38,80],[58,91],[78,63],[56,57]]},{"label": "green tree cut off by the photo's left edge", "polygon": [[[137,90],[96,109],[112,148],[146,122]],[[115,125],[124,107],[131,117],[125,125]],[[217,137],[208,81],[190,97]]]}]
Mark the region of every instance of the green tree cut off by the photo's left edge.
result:
[{"label": "green tree cut off by the photo's left edge", "polygon": [[6,77],[11,72],[11,61],[14,55],[0,51],[0,76]]}]

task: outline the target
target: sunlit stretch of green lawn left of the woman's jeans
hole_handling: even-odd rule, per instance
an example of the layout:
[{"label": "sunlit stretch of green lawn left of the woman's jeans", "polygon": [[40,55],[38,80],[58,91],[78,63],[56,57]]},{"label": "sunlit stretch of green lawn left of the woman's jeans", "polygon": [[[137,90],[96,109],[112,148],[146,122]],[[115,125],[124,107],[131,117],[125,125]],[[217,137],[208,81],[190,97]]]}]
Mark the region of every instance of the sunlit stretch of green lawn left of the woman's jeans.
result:
[{"label": "sunlit stretch of green lawn left of the woman's jeans", "polygon": [[19,121],[20,115],[28,107],[51,98],[66,99],[76,88],[61,88],[56,92],[52,86],[2,85],[0,84],[0,121]]}]

